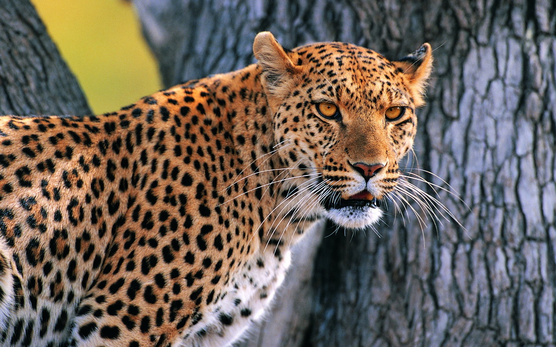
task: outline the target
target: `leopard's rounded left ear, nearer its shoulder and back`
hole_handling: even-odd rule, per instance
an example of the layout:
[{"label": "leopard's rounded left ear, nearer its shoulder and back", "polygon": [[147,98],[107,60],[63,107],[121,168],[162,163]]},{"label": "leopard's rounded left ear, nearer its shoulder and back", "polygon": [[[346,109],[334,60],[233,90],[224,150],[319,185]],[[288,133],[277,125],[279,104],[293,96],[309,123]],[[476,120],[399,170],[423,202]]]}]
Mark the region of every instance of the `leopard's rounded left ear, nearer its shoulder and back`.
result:
[{"label": "leopard's rounded left ear, nearer its shoulder and back", "polygon": [[280,46],[272,33],[264,31],[257,34],[253,43],[253,53],[262,68],[263,83],[268,92],[278,94],[293,88],[292,78],[299,71],[285,49]]}]

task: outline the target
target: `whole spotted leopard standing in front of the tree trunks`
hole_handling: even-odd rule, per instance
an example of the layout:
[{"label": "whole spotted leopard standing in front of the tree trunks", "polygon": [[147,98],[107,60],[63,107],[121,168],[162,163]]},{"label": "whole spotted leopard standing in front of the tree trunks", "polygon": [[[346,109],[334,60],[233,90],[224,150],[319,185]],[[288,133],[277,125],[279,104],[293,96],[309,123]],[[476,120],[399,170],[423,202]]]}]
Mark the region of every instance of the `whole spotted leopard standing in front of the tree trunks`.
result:
[{"label": "whole spotted leopard standing in front of the tree trunks", "polygon": [[380,220],[430,45],[253,52],[117,112],[0,117],[0,345],[230,346],[316,223]]}]

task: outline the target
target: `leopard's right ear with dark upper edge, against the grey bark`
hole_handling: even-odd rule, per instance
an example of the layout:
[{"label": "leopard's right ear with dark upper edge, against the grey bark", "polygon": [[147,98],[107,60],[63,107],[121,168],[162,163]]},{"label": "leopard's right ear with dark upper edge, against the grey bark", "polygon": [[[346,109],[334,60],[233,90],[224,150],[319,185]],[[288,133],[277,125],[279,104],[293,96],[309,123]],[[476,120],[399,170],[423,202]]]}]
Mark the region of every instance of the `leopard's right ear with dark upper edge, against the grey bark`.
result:
[{"label": "leopard's right ear with dark upper edge, against the grey bark", "polygon": [[433,71],[433,49],[430,44],[423,45],[415,52],[405,56],[398,61],[392,62],[398,71],[406,74],[413,89],[415,106],[419,107],[425,103],[425,87]]}]

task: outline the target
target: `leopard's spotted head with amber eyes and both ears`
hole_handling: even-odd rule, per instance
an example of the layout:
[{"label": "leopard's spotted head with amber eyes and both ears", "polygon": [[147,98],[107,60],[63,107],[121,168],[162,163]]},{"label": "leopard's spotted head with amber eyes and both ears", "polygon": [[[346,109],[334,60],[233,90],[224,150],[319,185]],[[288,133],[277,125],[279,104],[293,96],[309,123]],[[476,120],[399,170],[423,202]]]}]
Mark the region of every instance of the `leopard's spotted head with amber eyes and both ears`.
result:
[{"label": "leopard's spotted head with amber eyes and both ears", "polygon": [[289,167],[309,170],[319,208],[346,228],[380,219],[399,160],[413,145],[433,62],[423,44],[399,61],[349,43],[314,43],[287,51],[269,32],[255,57],[274,113],[275,141]]}]

